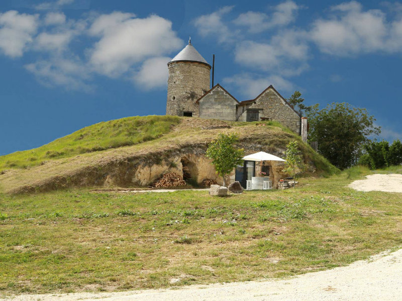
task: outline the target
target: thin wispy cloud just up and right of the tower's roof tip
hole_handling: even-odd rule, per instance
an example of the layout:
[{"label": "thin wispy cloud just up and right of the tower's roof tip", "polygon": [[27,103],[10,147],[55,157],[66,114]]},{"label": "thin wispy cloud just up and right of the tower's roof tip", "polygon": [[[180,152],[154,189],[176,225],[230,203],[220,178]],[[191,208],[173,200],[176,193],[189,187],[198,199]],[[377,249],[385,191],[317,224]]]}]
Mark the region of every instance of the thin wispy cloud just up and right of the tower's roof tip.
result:
[{"label": "thin wispy cloud just up and right of the tower's roof tip", "polygon": [[203,15],[194,20],[194,26],[198,34],[203,37],[215,36],[218,42],[233,42],[239,34],[238,31],[231,30],[222,21],[222,17],[232,11],[233,6],[226,6],[209,15]]}]

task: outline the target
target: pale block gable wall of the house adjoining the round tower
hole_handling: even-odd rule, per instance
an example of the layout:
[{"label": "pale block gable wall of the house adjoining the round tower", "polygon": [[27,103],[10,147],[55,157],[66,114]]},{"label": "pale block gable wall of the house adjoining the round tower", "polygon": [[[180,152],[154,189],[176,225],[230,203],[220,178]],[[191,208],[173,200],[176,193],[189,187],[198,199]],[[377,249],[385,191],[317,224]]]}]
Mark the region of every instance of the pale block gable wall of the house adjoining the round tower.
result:
[{"label": "pale block gable wall of the house adjoining the round tower", "polygon": [[236,121],[237,103],[233,97],[218,86],[199,100],[199,117]]}]

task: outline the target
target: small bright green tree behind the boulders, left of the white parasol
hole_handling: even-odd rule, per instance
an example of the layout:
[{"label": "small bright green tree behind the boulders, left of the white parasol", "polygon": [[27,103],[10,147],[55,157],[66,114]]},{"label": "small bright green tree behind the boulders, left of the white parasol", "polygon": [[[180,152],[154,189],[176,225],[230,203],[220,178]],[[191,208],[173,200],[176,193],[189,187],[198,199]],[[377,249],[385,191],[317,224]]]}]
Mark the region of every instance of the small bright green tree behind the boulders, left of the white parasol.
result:
[{"label": "small bright green tree behind the boulders, left of the white parasol", "polygon": [[212,160],[217,174],[223,178],[225,187],[225,176],[243,163],[244,149],[235,146],[238,140],[239,136],[235,133],[229,135],[221,133],[216,140],[210,143],[207,149],[206,155]]}]

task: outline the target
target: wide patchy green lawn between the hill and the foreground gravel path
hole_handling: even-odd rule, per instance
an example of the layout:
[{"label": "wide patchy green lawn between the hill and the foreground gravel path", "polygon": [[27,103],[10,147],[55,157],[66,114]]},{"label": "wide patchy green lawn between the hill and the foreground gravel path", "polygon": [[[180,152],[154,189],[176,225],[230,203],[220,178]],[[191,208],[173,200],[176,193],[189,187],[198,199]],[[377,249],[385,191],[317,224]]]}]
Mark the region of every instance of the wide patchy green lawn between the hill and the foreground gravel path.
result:
[{"label": "wide patchy green lawn between the hill and the foreground gravel path", "polygon": [[0,195],[0,294],[247,281],[346,265],[402,244],[401,194],[347,188],[367,173],[226,198]]}]

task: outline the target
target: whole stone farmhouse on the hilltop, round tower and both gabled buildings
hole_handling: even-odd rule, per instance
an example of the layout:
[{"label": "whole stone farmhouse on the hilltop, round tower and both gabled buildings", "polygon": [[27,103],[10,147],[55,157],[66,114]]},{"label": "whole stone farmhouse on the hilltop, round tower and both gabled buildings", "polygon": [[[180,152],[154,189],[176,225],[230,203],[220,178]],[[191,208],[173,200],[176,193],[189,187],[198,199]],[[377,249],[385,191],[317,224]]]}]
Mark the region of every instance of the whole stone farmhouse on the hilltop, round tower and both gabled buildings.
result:
[{"label": "whole stone farmhouse on the hilltop, round tower and both gabled buildings", "polygon": [[211,88],[211,65],[191,45],[191,40],[167,66],[166,115],[231,121],[276,120],[298,134],[302,133],[302,123],[303,130],[307,129],[307,119],[272,85],[254,99],[243,101],[238,101],[220,84]]}]

